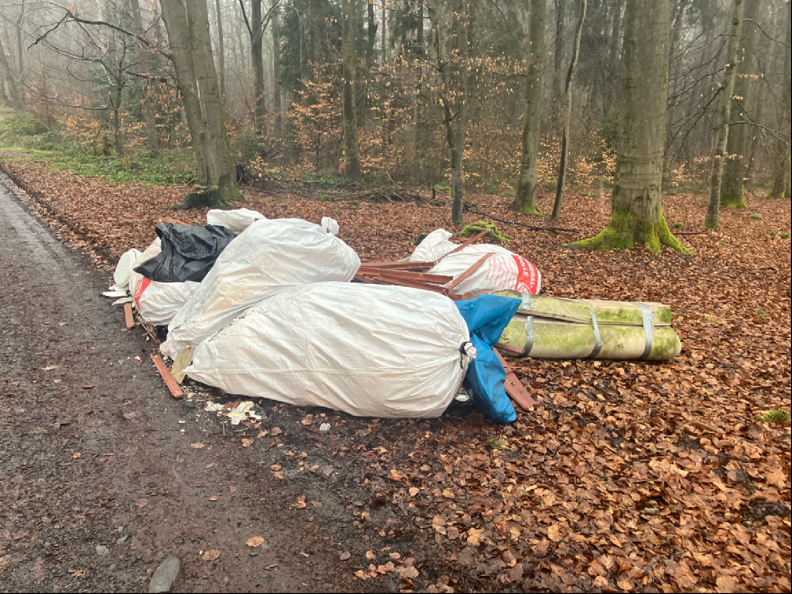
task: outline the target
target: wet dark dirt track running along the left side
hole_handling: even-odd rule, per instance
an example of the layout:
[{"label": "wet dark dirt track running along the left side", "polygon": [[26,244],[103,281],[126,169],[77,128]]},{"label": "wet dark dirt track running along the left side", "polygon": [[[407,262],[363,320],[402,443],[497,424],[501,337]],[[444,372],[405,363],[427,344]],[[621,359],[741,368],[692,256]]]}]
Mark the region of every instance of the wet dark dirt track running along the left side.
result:
[{"label": "wet dark dirt track running along the left side", "polygon": [[147,591],[169,555],[183,592],[354,589],[331,535],[170,397],[107,278],[4,176],[0,228],[0,591]]}]

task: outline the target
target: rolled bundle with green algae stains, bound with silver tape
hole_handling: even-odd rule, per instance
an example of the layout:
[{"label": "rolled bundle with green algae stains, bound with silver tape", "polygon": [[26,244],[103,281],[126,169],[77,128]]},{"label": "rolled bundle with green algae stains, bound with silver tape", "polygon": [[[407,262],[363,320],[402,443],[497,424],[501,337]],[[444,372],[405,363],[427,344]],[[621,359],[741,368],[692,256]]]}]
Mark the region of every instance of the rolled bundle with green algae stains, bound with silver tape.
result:
[{"label": "rolled bundle with green algae stains, bound with silver tape", "polygon": [[498,343],[505,356],[668,361],[682,349],[663,303],[495,295],[523,300]]}]

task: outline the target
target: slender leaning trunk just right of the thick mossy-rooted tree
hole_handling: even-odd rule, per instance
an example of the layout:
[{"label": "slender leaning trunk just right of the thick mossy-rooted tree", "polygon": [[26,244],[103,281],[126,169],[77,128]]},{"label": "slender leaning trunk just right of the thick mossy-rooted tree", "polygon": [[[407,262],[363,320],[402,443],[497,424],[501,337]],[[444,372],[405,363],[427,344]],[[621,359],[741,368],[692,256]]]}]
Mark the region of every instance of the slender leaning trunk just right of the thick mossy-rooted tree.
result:
[{"label": "slender leaning trunk just right of the thick mossy-rooted tree", "polygon": [[[759,42],[759,21],[761,0],[744,0],[744,21],[740,49],[737,52],[737,80],[731,106],[733,122],[755,121],[755,100],[758,68],[754,50]],[[748,172],[748,139],[751,136],[750,124],[729,124],[729,138],[726,141],[726,160],[723,166],[721,186],[721,206],[726,208],[746,208],[743,199],[743,181]]]}]

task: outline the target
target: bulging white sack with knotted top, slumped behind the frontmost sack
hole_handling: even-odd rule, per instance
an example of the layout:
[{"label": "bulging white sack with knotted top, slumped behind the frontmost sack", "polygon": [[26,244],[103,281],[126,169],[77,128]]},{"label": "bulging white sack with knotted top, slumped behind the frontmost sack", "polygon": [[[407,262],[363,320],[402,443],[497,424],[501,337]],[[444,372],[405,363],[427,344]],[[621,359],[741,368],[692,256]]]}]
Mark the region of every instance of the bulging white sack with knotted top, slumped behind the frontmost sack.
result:
[{"label": "bulging white sack with knotted top, slumped behind the frontmost sack", "polygon": [[242,231],[219,255],[192,299],[168,326],[162,354],[175,359],[284,287],[348,282],[360,258],[341,239],[303,219],[264,219]]}]

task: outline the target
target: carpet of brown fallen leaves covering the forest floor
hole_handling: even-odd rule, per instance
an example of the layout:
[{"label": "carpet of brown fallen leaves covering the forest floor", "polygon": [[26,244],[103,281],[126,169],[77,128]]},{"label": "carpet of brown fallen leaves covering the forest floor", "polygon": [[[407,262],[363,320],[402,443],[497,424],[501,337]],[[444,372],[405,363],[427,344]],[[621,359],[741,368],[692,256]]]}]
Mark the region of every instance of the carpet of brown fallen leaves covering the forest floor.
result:
[{"label": "carpet of brown fallen leaves covering the forest floor", "polygon": [[[6,169],[62,238],[108,267],[127,249],[145,247],[169,214],[164,208],[185,194],[180,186],[112,185],[31,162]],[[339,236],[362,261],[404,257],[418,234],[462,228],[446,207],[243,191],[246,208],[271,218],[337,219]],[[542,224],[509,211],[501,196],[471,192],[467,200],[501,219]],[[539,208],[551,201],[540,196]],[[514,238],[509,249],[542,270],[548,295],[668,303],[683,343],[671,364],[511,360],[537,406],[509,427],[452,405],[430,421],[327,412],[333,429],[320,434],[301,422],[314,410],[265,405],[268,421],[257,437],[308,449],[303,457],[274,448],[285,450],[267,459],[274,478],[322,477],[299,482],[303,493],[314,490],[291,505],[329,500],[323,483],[339,474],[362,477],[359,488],[334,495],[348,503],[351,533],[406,539],[418,558],[391,554],[393,561],[366,564],[371,541],[348,544],[339,555],[360,561],[356,577],[393,573],[410,589],[425,576],[430,592],[790,589],[790,242],[780,237],[790,229],[790,203],[749,197],[760,219],[724,210],[714,231],[700,227],[704,207],[695,196],[665,196],[669,223],[703,230],[680,236],[692,257],[565,248],[604,227],[607,202],[569,192],[559,224],[577,234],[502,230]],[[205,214],[179,218],[203,224]],[[478,219],[465,215],[466,224]],[[768,416],[778,410],[787,415]],[[341,472],[319,473],[328,463]],[[354,499],[361,493],[368,503]]]}]

